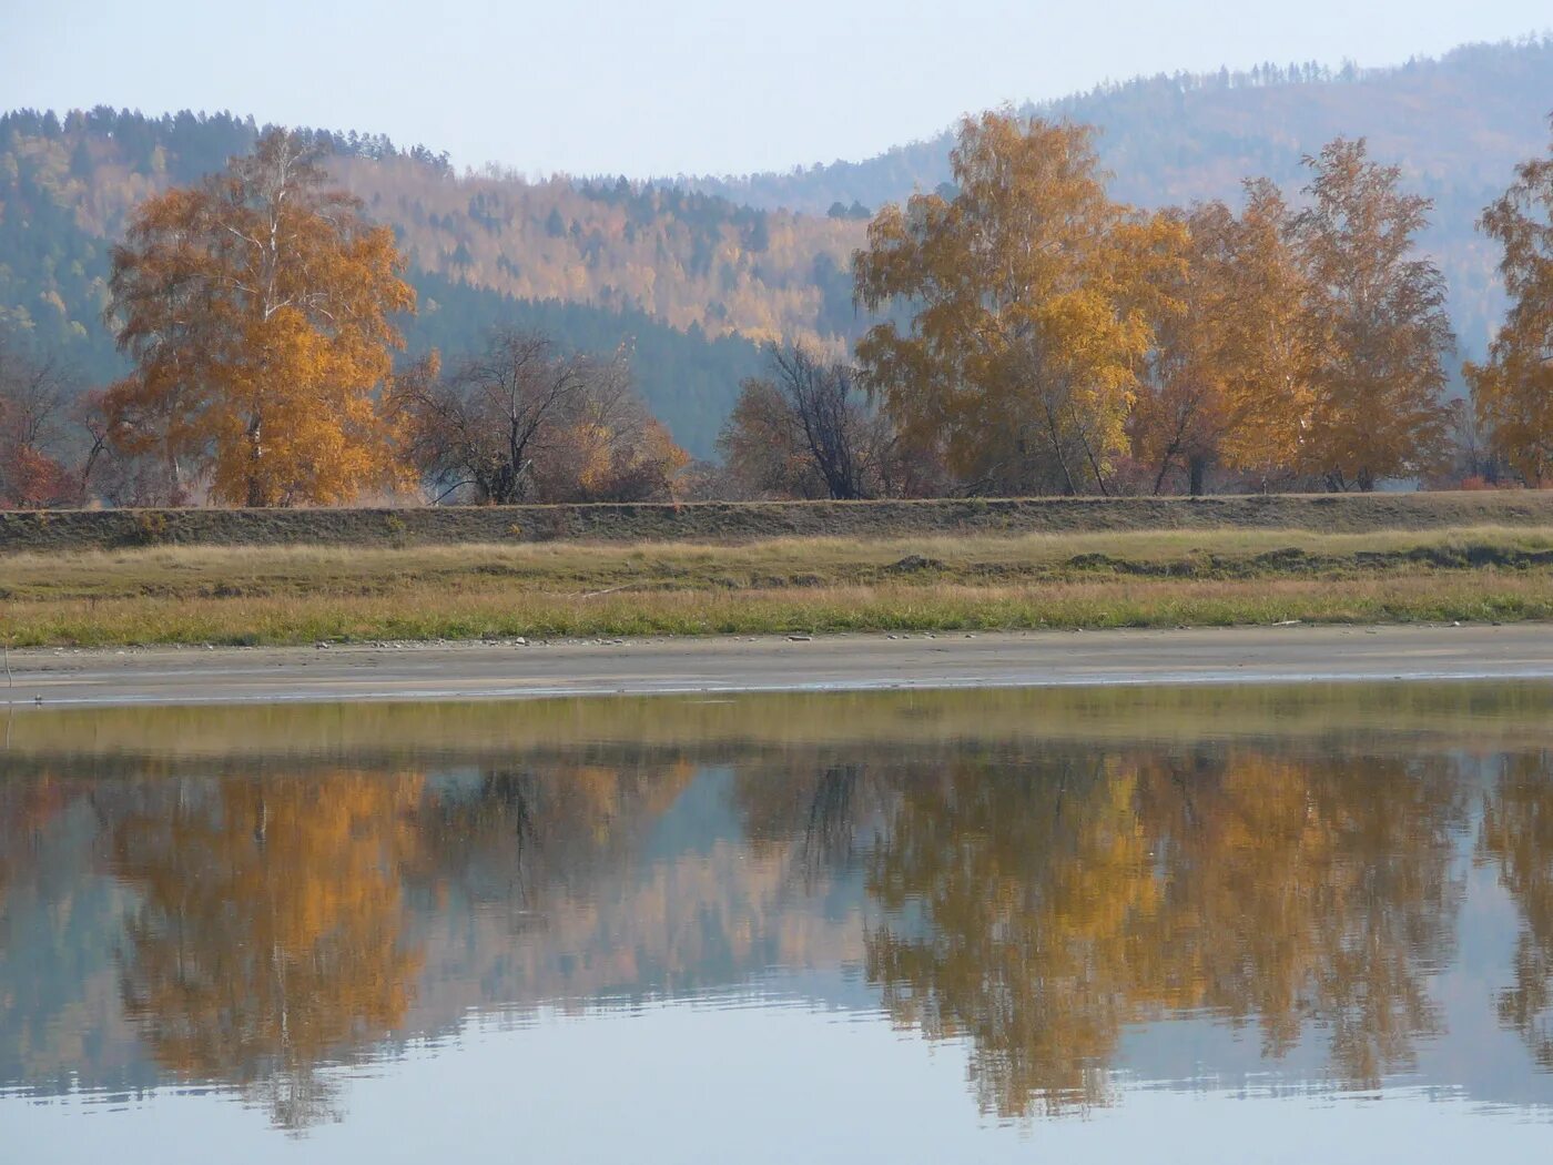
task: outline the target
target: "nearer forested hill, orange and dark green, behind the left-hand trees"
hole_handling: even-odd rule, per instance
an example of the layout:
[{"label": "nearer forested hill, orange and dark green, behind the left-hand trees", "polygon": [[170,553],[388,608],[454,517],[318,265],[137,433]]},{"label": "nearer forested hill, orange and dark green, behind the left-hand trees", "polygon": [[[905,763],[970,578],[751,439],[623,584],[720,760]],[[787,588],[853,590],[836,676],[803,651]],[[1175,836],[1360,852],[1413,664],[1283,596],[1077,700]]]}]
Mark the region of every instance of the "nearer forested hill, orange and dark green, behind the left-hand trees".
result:
[{"label": "nearer forested hill, orange and dark green, behind the left-hand trees", "polygon": [[[85,382],[123,371],[102,323],[109,253],[149,194],[245,152],[252,118],[96,109],[0,116],[0,326]],[[469,351],[499,323],[634,354],[637,384],[691,452],[710,455],[758,340],[843,348],[859,224],[736,207],[624,182],[458,177],[424,148],[317,134],[328,169],[390,224],[421,315],[410,351]]]}]

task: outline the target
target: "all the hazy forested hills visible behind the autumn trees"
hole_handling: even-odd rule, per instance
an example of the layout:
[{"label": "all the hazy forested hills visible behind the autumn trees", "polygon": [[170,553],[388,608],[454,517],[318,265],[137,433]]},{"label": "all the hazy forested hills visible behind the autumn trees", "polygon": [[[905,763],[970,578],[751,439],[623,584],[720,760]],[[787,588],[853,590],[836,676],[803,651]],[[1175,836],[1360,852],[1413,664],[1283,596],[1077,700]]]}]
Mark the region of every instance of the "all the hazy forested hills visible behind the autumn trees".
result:
[{"label": "all the hazy forested hills visible behind the autumn trees", "polygon": [[[1267,176],[1291,193],[1301,155],[1337,135],[1370,140],[1435,199],[1424,239],[1451,283],[1463,354],[1502,309],[1482,207],[1545,149],[1553,40],[1474,45],[1396,68],[1258,67],[1104,85],[1031,107],[1101,127],[1117,196],[1141,207],[1236,197]],[[0,323],[61,353],[82,379],[120,371],[101,320],[109,249],[137,202],[247,149],[252,118],[148,118],[98,109],[0,118]],[[326,135],[329,168],[394,227],[421,317],[412,354],[457,354],[503,320],[596,351],[626,343],[649,405],[708,455],[756,342],[840,353],[867,323],[848,256],[865,214],[947,177],[949,134],[881,157],[742,179],[530,182],[458,176],[426,148]]]}]

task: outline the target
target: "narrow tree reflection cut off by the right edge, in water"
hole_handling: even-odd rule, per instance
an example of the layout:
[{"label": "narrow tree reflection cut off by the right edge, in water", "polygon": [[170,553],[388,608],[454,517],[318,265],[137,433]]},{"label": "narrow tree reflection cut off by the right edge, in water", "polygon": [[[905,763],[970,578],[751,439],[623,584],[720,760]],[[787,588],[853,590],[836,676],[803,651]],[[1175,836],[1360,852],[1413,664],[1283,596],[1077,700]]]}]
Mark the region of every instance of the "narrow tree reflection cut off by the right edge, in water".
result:
[{"label": "narrow tree reflection cut off by the right edge, in water", "polygon": [[1553,1069],[1553,753],[1505,758],[1483,805],[1478,856],[1520,909],[1514,985],[1499,996],[1499,1019]]}]

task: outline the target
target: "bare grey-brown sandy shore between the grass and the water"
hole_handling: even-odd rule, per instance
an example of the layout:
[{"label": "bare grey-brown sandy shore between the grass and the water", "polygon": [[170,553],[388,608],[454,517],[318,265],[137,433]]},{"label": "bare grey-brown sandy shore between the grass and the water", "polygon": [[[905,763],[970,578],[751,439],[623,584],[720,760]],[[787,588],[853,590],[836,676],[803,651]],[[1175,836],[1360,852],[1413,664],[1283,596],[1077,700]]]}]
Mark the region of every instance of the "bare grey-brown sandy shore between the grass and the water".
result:
[{"label": "bare grey-brown sandy shore between the grass and the water", "polygon": [[16,707],[1553,677],[1553,624],[12,651]]}]

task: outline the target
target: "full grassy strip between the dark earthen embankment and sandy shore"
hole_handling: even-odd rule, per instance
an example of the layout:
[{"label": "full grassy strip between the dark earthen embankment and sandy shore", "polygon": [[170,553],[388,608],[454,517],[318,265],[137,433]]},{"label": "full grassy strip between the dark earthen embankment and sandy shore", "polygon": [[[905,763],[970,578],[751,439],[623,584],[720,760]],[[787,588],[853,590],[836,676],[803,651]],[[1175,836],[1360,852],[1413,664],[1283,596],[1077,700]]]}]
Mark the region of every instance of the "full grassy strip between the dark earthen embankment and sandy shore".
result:
[{"label": "full grassy strip between the dark earthen embankment and sandy shore", "polygon": [[1553,618],[1553,528],[0,558],[11,646]]}]

